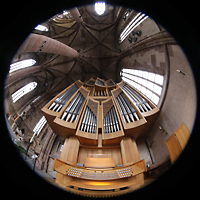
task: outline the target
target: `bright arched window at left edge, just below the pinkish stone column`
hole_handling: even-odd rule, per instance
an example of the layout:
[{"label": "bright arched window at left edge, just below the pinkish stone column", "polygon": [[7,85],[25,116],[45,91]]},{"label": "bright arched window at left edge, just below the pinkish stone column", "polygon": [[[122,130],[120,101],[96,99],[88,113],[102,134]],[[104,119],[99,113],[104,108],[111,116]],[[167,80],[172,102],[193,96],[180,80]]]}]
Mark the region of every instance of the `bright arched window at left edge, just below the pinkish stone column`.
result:
[{"label": "bright arched window at left edge, just below the pinkish stone column", "polygon": [[36,63],[36,61],[34,59],[26,59],[26,60],[22,60],[16,63],[13,63],[10,65],[10,71],[9,73],[12,73],[14,71],[17,71],[19,69],[23,69],[26,67],[31,67]]}]

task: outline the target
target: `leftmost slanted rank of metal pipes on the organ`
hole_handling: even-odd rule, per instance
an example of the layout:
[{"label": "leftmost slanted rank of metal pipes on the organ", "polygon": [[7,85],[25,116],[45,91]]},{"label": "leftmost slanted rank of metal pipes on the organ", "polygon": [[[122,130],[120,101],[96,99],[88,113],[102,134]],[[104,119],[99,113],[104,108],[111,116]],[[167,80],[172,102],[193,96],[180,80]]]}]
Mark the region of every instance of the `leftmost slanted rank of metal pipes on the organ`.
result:
[{"label": "leftmost slanted rank of metal pipes on the organ", "polygon": [[49,110],[59,112],[77,90],[78,86],[74,84],[51,104]]}]

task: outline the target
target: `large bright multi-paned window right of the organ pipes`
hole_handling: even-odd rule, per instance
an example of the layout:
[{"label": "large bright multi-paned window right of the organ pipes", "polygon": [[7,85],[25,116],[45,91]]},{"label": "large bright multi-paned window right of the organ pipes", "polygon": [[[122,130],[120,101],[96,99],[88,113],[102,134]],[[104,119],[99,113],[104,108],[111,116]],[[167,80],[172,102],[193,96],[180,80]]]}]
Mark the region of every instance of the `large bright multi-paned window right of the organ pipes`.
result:
[{"label": "large bright multi-paned window right of the organ pipes", "polygon": [[122,80],[158,105],[164,81],[162,75],[136,69],[122,69],[121,76]]}]

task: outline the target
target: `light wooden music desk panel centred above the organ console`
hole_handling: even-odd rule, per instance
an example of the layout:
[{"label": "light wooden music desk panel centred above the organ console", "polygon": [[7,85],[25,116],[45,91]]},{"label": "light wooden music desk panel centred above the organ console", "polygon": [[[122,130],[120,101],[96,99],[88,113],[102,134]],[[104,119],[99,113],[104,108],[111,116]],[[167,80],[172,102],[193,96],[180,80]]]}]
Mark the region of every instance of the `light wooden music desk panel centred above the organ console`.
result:
[{"label": "light wooden music desk panel centred above the organ console", "polygon": [[92,168],[110,168],[115,167],[115,162],[112,157],[110,158],[90,158],[87,157],[85,160],[85,167]]}]

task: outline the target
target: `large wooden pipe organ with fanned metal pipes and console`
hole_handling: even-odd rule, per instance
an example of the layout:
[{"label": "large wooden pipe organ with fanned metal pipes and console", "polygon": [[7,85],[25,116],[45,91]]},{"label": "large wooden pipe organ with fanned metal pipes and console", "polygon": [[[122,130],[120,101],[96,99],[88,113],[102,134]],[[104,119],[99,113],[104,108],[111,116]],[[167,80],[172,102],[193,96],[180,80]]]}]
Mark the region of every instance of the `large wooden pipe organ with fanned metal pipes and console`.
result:
[{"label": "large wooden pipe organ with fanned metal pipes and console", "polygon": [[59,186],[77,194],[103,196],[105,190],[113,196],[144,183],[146,164],[136,139],[149,130],[159,109],[135,88],[100,78],[76,81],[42,112],[55,134],[65,138],[53,166]]}]

